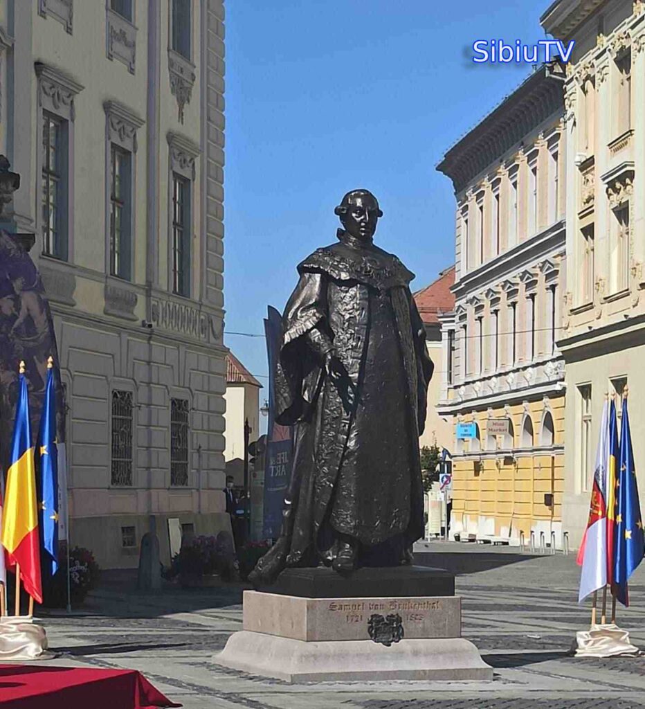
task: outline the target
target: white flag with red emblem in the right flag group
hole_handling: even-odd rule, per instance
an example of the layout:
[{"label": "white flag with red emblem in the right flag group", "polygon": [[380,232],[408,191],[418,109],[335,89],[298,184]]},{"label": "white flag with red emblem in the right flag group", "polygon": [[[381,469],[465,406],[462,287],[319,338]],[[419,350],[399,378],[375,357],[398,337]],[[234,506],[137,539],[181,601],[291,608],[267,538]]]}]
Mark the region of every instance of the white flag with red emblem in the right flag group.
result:
[{"label": "white flag with red emblem in the right flag group", "polygon": [[576,561],[582,566],[578,603],[607,584],[607,474],[610,464],[609,405],[600,421],[587,529]]}]

